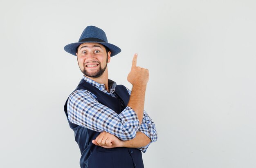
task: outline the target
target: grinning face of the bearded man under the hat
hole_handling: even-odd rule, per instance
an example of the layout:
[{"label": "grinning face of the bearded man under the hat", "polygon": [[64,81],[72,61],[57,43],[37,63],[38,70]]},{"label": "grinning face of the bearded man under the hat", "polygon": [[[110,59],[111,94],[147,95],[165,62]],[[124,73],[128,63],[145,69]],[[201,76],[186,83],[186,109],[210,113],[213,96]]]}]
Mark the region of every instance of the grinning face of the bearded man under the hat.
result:
[{"label": "grinning face of the bearded man under the hat", "polygon": [[83,43],[76,53],[79,68],[88,77],[100,77],[105,72],[110,54],[99,43]]}]

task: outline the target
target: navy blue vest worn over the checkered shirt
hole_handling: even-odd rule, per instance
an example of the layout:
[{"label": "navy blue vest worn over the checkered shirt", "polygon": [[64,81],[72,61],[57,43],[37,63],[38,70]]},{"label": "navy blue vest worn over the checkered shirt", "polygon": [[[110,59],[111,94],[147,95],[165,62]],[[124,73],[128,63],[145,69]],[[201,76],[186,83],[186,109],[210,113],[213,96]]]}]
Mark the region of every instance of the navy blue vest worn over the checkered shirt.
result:
[{"label": "navy blue vest worn over the checkered shirt", "polygon": [[[115,93],[123,101],[124,107],[121,106],[119,99],[100,91],[83,79],[74,91],[81,89],[93,93],[97,97],[98,102],[108,106],[118,114],[124,110],[130,99],[130,95],[123,85],[117,85]],[[64,105],[64,111],[67,116],[67,101]],[[137,148],[107,149],[96,146],[92,144],[92,140],[100,134],[99,132],[73,124],[69,121],[68,116],[67,121],[70,128],[74,130],[75,140],[80,148],[81,168],[144,168],[141,151]]]}]

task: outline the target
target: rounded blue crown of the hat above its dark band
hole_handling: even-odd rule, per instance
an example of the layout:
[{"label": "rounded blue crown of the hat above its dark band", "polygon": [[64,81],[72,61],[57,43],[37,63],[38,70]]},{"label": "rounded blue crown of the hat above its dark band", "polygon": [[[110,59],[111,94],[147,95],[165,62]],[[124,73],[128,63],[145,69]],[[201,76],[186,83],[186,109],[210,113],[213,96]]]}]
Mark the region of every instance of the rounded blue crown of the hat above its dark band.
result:
[{"label": "rounded blue crown of the hat above its dark band", "polygon": [[106,33],[100,28],[95,26],[86,27],[79,38],[79,42],[87,38],[97,38],[97,39],[103,40],[104,42],[108,42]]}]

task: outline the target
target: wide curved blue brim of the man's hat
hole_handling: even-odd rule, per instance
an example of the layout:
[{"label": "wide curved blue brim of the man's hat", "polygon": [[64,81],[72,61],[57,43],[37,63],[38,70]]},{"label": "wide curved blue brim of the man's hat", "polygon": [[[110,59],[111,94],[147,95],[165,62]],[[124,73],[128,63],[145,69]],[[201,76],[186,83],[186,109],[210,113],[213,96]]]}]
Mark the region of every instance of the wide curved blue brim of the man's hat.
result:
[{"label": "wide curved blue brim of the man's hat", "polygon": [[[76,49],[79,45],[83,44],[83,43],[88,43],[88,42],[74,42],[74,43],[71,43],[71,44],[67,44],[65,47],[64,47],[64,50],[67,51],[68,53],[76,56]],[[110,44],[110,43],[107,43],[107,42],[92,42],[92,43],[99,43],[99,44],[102,44],[103,46],[106,46],[108,47],[108,49],[110,50],[111,52],[111,57],[117,55],[118,53],[121,52],[121,49],[118,47],[118,46],[115,46],[114,44]]]}]

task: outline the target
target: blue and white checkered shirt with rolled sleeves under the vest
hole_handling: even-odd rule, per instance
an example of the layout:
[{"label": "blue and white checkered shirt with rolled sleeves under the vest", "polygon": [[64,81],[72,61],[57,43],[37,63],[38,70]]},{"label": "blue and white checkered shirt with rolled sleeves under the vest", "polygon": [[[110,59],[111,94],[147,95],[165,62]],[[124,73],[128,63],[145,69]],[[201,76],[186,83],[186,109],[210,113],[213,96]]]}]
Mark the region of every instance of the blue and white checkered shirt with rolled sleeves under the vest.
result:
[{"label": "blue and white checkered shirt with rolled sleeves under the vest", "polygon": [[[108,81],[110,90],[108,93],[104,84],[99,84],[84,75],[83,80],[100,91],[119,99],[115,94],[116,82]],[[127,90],[130,94],[131,91],[128,88]],[[70,95],[67,101],[67,114],[70,122],[74,124],[97,132],[108,132],[123,141],[133,139],[137,131],[147,135],[151,139],[150,143],[157,140],[155,124],[146,111],[144,111],[143,120],[139,125],[138,117],[132,108],[126,106],[120,114],[117,114],[111,108],[100,104],[97,97],[87,90],[76,90]],[[145,153],[149,144],[138,149]]]}]

